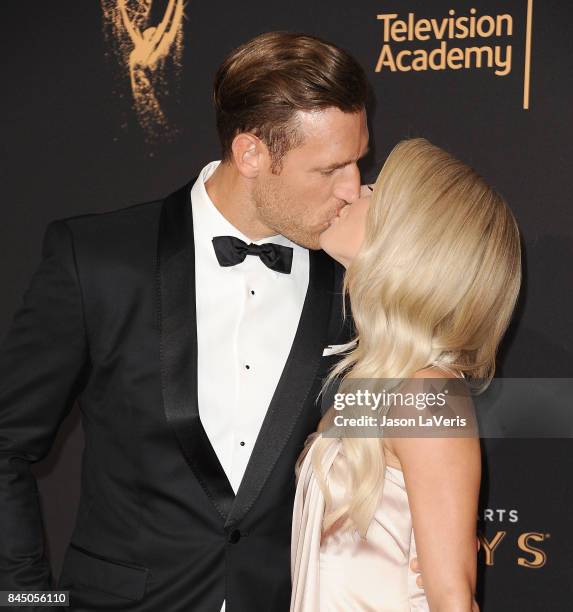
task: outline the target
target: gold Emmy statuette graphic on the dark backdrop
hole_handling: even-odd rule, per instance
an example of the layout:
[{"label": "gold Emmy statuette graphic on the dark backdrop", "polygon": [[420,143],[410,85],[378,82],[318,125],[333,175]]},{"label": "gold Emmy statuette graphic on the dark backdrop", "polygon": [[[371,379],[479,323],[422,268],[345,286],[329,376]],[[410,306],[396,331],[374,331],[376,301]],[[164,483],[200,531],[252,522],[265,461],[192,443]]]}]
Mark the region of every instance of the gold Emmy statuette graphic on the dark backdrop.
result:
[{"label": "gold Emmy statuette graphic on the dark backdrop", "polygon": [[149,24],[152,3],[102,0],[102,8],[106,39],[129,74],[137,119],[146,139],[159,141],[175,133],[161,108],[160,97],[169,92],[168,82],[177,79],[181,70],[184,0],[165,0],[157,25]]}]

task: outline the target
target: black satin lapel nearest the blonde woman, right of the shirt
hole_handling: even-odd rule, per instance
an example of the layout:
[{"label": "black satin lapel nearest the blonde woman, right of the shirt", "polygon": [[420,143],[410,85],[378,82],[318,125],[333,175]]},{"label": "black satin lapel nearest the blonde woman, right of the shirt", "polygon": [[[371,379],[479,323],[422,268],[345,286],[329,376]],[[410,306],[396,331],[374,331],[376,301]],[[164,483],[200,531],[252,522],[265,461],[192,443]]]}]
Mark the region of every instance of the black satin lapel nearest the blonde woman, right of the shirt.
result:
[{"label": "black satin lapel nearest the blonde woman, right of the shirt", "polygon": [[254,504],[303,410],[320,366],[333,294],[332,260],[324,251],[310,251],[299,326],[225,527],[240,521]]}]

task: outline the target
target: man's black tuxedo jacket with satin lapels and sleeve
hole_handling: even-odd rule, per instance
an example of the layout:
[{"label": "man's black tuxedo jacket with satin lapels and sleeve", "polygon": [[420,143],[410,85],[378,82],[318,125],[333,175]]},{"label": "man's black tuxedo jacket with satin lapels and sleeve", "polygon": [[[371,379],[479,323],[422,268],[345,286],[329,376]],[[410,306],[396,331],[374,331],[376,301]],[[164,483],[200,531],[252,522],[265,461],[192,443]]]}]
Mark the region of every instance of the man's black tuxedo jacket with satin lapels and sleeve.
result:
[{"label": "man's black tuxedo jacket with satin lapels and sleeve", "polygon": [[[323,349],[352,332],[343,270],[310,251],[299,327],[235,496],[197,406],[192,183],[46,229],[0,348],[0,589],[69,589],[74,610],[289,609],[294,464],[337,359]],[[81,497],[55,582],[29,468],[76,399]]]}]

